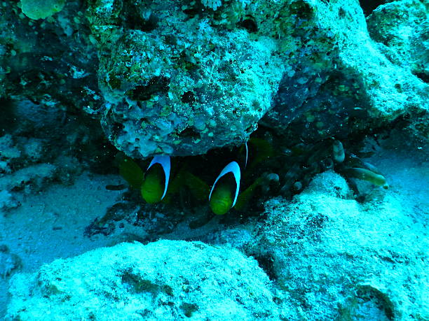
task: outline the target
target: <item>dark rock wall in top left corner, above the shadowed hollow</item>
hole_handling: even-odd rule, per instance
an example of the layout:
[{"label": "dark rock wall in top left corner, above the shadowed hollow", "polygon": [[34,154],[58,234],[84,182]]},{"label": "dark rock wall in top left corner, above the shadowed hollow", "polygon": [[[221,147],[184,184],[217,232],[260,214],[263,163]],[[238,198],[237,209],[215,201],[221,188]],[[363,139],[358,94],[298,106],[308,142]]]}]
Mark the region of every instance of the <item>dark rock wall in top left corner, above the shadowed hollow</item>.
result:
[{"label": "dark rock wall in top left corner, above the shadowed hollow", "polygon": [[[48,110],[61,117],[65,111],[76,115],[100,108],[97,52],[90,42],[83,3],[67,1],[60,10],[63,0],[24,2],[0,5],[0,99],[31,101],[33,115]],[[33,8],[47,6],[44,10],[60,12],[32,20],[21,9],[32,2]]]}]

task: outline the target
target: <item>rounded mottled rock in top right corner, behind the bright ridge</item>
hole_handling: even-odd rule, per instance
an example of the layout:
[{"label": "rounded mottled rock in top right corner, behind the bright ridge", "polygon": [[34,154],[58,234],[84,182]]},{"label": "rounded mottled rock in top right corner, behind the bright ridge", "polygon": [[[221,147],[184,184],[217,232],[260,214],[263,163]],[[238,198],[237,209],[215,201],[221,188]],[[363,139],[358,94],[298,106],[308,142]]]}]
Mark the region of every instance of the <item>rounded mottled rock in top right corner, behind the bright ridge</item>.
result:
[{"label": "rounded mottled rock in top right corner, behind the bright ridge", "polygon": [[[400,66],[423,83],[429,83],[429,10],[428,4],[418,0],[404,0],[379,6],[367,19],[371,38],[383,55],[395,66]],[[410,77],[415,82],[414,77]],[[398,92],[409,87],[395,85]],[[428,87],[425,86],[428,92]],[[426,98],[425,98],[426,97]],[[429,103],[427,95],[421,106],[409,110],[411,134],[428,143]],[[413,115],[413,111],[415,114]],[[418,117],[416,117],[416,115]]]}]

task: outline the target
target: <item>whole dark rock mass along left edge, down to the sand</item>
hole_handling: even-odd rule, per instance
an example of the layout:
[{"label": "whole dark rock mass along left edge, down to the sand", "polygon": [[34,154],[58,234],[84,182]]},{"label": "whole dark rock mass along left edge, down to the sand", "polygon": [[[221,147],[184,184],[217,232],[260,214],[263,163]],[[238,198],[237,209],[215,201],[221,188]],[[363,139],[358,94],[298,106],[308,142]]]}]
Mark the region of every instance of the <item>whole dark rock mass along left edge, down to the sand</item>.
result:
[{"label": "whole dark rock mass along left edge, down to the sand", "polygon": [[[97,54],[82,3],[62,4],[0,3],[2,210],[18,206],[22,190],[40,191],[53,181],[70,183],[83,168],[95,163],[100,169],[100,160],[109,158],[98,120],[82,111],[101,104]],[[25,13],[34,19],[53,15],[33,20]]]}]

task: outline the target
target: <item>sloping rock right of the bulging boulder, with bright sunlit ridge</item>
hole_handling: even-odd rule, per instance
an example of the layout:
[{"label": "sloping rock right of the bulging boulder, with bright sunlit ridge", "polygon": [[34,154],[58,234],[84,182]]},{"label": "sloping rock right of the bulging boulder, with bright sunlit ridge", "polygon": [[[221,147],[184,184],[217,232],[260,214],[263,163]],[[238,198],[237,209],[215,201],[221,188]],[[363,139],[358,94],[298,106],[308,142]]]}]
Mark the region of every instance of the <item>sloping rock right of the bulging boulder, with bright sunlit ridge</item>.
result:
[{"label": "sloping rock right of the bulging boulder, with bright sunlit ridge", "polygon": [[[368,18],[371,36],[378,35],[373,38],[357,1],[294,2],[301,6],[297,28],[291,31],[299,45],[287,59],[293,72],[283,76],[273,108],[262,123],[288,138],[300,133],[301,139],[312,142],[330,136],[345,139],[391,124],[398,117],[424,117],[429,108],[428,84],[402,62],[425,43],[422,31],[428,27],[418,21],[427,13],[423,3],[414,2],[414,10],[396,1],[374,11]],[[373,17],[392,6],[395,10],[389,15],[409,16],[400,20],[409,38],[389,50],[394,56],[404,52],[395,61],[386,55],[386,46],[374,42],[391,38],[390,33],[400,34],[401,22],[386,27],[378,24],[386,19],[384,14]],[[392,20],[386,19],[386,24]],[[421,136],[425,137],[423,132]]]}]

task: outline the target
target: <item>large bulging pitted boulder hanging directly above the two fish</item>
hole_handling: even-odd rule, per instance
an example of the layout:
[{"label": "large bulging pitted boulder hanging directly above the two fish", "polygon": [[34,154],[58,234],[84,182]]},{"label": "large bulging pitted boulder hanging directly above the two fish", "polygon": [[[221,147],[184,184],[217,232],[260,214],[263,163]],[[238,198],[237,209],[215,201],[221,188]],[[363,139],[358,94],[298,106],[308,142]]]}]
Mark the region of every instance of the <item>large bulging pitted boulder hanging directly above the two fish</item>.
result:
[{"label": "large bulging pitted boulder hanging directly above the two fish", "polygon": [[118,149],[135,158],[184,156],[247,140],[284,67],[273,36],[240,24],[275,8],[245,7],[112,0],[88,8],[107,101],[102,125]]}]

